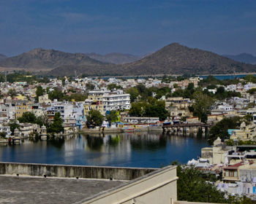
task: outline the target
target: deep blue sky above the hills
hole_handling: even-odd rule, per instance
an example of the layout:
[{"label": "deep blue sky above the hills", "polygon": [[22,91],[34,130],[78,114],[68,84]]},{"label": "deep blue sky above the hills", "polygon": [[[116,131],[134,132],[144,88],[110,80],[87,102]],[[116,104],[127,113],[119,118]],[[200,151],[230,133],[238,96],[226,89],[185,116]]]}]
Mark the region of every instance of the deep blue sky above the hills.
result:
[{"label": "deep blue sky above the hills", "polygon": [[255,0],[0,0],[0,53],[144,55],[172,42],[256,55]]}]

